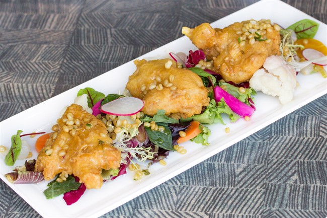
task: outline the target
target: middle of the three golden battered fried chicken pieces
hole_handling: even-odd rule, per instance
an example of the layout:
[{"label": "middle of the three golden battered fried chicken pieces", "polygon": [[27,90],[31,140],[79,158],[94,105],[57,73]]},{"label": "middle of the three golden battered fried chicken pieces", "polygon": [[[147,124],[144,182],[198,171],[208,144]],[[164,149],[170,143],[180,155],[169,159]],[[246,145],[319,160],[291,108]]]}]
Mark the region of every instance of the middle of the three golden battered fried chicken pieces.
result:
[{"label": "middle of the three golden battered fried chicken pieces", "polygon": [[129,77],[126,89],[132,96],[144,100],[145,114],[157,110],[179,119],[201,113],[209,104],[208,90],[201,78],[188,69],[177,67],[171,59],[135,60],[137,69]]}]

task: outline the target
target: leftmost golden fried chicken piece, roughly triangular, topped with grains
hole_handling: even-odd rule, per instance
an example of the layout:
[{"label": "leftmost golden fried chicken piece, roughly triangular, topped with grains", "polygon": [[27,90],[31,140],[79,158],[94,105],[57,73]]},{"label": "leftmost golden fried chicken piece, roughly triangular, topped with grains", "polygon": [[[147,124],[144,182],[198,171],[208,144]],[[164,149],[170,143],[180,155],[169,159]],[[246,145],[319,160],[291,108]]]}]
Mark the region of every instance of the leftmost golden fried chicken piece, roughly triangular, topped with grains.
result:
[{"label": "leftmost golden fried chicken piece, roughly triangular, topped with grains", "polygon": [[43,172],[46,180],[63,172],[73,174],[88,189],[101,188],[102,169],[120,166],[120,152],[112,145],[106,125],[76,104],[57,123],[38,155],[35,171]]}]

